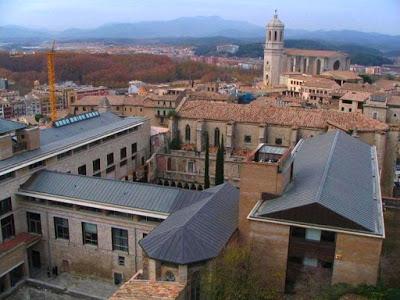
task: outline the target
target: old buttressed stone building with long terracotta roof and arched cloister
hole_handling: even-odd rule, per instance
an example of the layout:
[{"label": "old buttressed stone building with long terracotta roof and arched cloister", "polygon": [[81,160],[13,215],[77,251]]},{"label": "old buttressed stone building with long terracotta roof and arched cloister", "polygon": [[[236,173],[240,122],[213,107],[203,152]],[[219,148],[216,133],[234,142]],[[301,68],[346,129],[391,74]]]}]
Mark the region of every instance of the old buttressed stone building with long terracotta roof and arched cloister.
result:
[{"label": "old buttressed stone building with long terracotta roof and arched cloister", "polygon": [[[173,137],[179,135],[182,149],[157,155],[157,161],[152,162],[157,164],[159,170],[152,178],[154,182],[179,184],[189,188],[192,188],[193,184],[195,187],[201,185],[205,135],[209,138],[210,147],[215,147],[218,137],[224,137],[225,177],[237,185],[240,180],[238,165],[243,157],[254,151],[259,144],[292,147],[301,138],[341,129],[377,147],[379,166],[382,170],[382,190],[386,195],[392,193],[396,159],[389,153],[397,156],[398,131],[362,114],[187,101],[182,103],[177,116],[170,120],[169,128]],[[212,153],[213,149],[210,150]],[[212,154],[210,158],[212,178]]]}]

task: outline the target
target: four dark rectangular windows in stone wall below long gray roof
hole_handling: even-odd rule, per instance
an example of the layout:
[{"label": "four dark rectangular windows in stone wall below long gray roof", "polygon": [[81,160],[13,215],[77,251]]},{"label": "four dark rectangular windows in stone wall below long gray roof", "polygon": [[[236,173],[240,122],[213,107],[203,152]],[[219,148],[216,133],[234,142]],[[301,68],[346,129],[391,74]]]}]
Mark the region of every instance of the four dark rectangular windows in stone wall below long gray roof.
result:
[{"label": "four dark rectangular windows in stone wall below long gray roof", "polygon": [[[28,232],[42,234],[40,214],[27,212]],[[69,240],[69,222],[68,219],[54,217],[54,234],[56,239]],[[97,225],[93,223],[82,222],[82,243],[85,245],[98,245]],[[129,252],[128,230],[112,227],[111,228],[112,250]]]}]

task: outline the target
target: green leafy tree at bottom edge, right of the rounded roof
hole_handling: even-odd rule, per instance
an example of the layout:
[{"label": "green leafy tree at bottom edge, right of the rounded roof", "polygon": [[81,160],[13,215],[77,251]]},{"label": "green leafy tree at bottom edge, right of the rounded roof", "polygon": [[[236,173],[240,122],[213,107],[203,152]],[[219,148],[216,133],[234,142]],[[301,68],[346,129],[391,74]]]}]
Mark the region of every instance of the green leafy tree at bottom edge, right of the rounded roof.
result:
[{"label": "green leafy tree at bottom edge, right of the rounded roof", "polygon": [[[265,271],[264,271],[265,272]],[[276,299],[249,247],[230,246],[201,273],[200,293],[209,300]]]}]

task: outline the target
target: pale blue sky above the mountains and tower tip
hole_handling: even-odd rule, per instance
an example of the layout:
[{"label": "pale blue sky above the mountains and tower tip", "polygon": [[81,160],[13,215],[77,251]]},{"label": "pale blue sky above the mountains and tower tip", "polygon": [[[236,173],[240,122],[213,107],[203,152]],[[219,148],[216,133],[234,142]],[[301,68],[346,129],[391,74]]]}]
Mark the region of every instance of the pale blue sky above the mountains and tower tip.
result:
[{"label": "pale blue sky above the mountains and tower tip", "polygon": [[291,29],[400,35],[400,0],[0,0],[0,26],[63,30],[194,16],[264,26],[275,9]]}]

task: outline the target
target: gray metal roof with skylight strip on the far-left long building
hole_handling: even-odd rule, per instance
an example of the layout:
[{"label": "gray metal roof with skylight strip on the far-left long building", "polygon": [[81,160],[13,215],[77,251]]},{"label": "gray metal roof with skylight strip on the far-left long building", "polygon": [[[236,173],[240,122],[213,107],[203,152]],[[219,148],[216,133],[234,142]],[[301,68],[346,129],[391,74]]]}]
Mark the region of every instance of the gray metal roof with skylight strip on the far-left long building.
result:
[{"label": "gray metal roof with skylight strip on the far-left long building", "polygon": [[1,160],[0,173],[52,152],[66,150],[67,147],[78,145],[91,139],[99,139],[118,129],[132,127],[135,124],[142,123],[144,120],[142,117],[122,118],[112,112],[105,112],[100,114],[99,117],[67,126],[42,129],[40,130],[40,148]]}]

